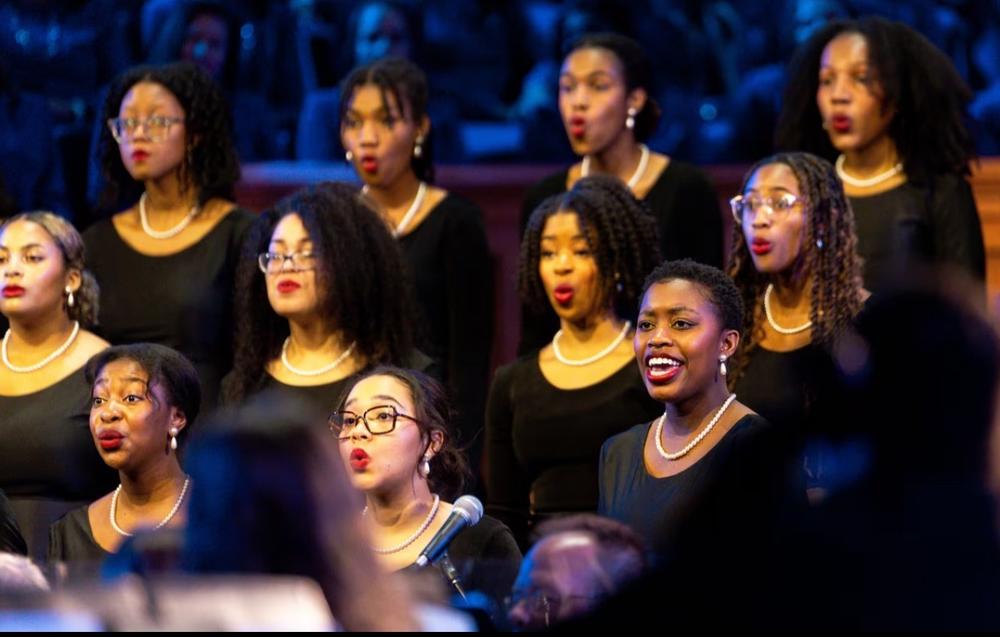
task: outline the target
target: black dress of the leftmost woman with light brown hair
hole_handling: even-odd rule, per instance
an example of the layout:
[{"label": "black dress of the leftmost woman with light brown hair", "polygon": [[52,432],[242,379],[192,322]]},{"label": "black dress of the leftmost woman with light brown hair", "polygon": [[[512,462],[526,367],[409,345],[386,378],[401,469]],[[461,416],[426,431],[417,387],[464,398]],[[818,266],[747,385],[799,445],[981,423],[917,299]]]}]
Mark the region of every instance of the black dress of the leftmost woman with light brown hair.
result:
[{"label": "black dress of the leftmost woman with light brown hair", "polygon": [[118,482],[94,446],[89,417],[82,368],[40,391],[0,396],[0,489],[32,558],[44,558],[53,521]]}]

